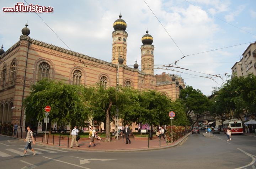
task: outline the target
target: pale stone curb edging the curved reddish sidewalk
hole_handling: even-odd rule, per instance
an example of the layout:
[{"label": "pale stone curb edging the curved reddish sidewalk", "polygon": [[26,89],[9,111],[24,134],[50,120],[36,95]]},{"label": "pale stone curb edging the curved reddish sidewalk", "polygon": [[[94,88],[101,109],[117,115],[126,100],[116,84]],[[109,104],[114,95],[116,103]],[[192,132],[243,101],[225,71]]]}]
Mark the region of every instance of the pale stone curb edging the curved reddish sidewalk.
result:
[{"label": "pale stone curb edging the curved reddish sidewalk", "polygon": [[[138,148],[138,149],[111,149],[111,150],[104,150],[104,149],[98,149],[98,150],[83,150],[83,149],[71,149],[71,148],[64,148],[64,147],[55,147],[55,146],[51,146],[51,145],[47,145],[41,142],[37,142],[37,144],[39,145],[43,145],[46,147],[51,147],[51,148],[56,148],[56,149],[65,149],[65,150],[71,150],[71,151],[80,151],[80,152],[138,152],[138,151],[151,151],[151,150],[160,150],[160,149],[166,149],[166,148],[171,148],[171,147],[176,147],[178,145],[180,145],[181,143],[183,143],[185,141],[185,138],[187,138],[189,135],[191,134],[188,133],[187,135],[183,136],[180,140],[178,140],[177,142],[175,142],[173,145],[170,146],[165,146],[165,147],[156,147],[156,148]],[[1,135],[4,137],[9,137],[9,138],[15,138],[12,136],[5,136],[5,135]],[[17,140],[23,140],[21,138],[15,138]]]}]

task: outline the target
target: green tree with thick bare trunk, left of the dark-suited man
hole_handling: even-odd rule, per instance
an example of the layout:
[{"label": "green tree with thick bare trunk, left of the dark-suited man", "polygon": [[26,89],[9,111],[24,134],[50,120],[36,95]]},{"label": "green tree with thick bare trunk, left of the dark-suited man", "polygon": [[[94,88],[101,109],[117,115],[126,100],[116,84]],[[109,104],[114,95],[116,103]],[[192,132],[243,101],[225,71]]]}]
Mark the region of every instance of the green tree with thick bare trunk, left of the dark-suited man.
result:
[{"label": "green tree with thick bare trunk, left of the dark-suited man", "polygon": [[92,111],[94,111],[94,117],[105,123],[106,142],[110,142],[110,122],[115,118],[116,106],[118,106],[119,115],[125,117],[125,114],[136,107],[136,100],[136,93],[127,87],[118,87],[118,90],[116,87],[107,89],[100,85],[94,87],[94,91],[88,101]]}]

